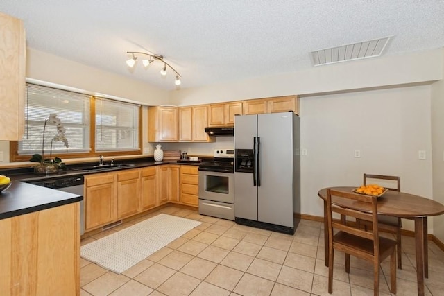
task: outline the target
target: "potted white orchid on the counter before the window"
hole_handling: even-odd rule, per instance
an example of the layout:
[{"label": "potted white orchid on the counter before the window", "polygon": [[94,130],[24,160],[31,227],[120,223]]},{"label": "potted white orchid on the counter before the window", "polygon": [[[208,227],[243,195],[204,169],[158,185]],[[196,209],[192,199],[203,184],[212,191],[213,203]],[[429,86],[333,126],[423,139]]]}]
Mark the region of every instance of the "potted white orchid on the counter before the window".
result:
[{"label": "potted white orchid on the counter before the window", "polygon": [[[56,125],[57,134],[51,139],[51,148],[49,150],[49,158],[44,155],[44,136],[46,132],[46,125],[52,123]],[[67,138],[65,137],[66,129],[63,127],[62,122],[58,118],[57,114],[49,115],[49,118],[44,121],[43,127],[43,139],[42,139],[42,154],[35,154],[29,159],[30,162],[38,162],[37,166],[34,166],[34,173],[37,174],[50,174],[57,173],[59,169],[66,169],[65,163],[62,162],[60,157],[52,157],[53,152],[53,142],[62,141],[65,147],[69,147]]]}]

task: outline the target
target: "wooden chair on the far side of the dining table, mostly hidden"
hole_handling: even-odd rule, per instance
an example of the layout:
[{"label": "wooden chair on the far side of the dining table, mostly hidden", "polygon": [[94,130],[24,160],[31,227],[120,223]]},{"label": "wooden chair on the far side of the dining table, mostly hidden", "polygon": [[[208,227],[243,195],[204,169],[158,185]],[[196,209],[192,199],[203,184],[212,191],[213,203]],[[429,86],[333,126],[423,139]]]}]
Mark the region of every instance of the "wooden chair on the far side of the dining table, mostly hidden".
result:
[{"label": "wooden chair on the far side of the dining table, mostly hidden", "polygon": [[[386,187],[388,190],[393,191],[401,191],[401,178],[398,176],[388,176],[388,175],[370,175],[364,173],[364,185],[368,183],[368,179],[376,179],[376,180],[388,180],[395,181],[396,187]],[[378,215],[377,220],[379,222],[379,229],[384,232],[390,232],[395,234],[396,243],[398,243],[398,268],[402,269],[402,240],[401,240],[401,229],[402,229],[402,220],[401,218]],[[358,223],[359,224],[359,223]]]}]

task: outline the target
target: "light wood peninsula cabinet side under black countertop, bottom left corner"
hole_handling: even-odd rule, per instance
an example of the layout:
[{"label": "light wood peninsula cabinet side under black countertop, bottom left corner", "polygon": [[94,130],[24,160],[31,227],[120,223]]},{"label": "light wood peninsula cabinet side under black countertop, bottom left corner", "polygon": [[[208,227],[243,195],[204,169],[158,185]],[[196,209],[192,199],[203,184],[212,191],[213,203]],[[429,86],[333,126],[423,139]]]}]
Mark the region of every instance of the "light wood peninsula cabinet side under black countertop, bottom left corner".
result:
[{"label": "light wood peninsula cabinet side under black countertop, bottom left corner", "polygon": [[80,295],[80,203],[0,220],[1,295]]}]

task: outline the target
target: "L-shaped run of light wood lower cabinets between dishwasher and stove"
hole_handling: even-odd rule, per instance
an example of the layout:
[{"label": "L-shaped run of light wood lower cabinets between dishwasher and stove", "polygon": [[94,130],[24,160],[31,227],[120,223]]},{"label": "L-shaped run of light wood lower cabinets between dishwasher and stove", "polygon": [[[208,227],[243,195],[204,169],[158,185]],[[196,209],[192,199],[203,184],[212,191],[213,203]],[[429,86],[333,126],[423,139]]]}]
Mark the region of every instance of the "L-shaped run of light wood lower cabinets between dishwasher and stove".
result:
[{"label": "L-shaped run of light wood lower cabinets between dishwasher and stove", "polygon": [[85,230],[174,202],[198,205],[198,166],[164,164],[85,175]]}]

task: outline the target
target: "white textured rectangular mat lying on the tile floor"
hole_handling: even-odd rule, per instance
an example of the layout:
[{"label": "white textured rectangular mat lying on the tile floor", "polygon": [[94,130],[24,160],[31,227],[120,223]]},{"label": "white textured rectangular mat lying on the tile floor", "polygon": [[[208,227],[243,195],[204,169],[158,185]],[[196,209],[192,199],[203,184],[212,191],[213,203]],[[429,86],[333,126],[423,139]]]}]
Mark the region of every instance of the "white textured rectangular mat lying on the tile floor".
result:
[{"label": "white textured rectangular mat lying on the tile floor", "polygon": [[196,220],[159,214],[80,247],[80,256],[121,273],[200,225]]}]

